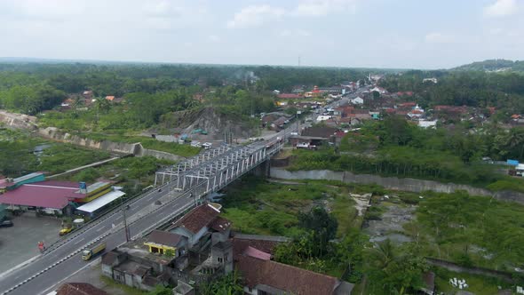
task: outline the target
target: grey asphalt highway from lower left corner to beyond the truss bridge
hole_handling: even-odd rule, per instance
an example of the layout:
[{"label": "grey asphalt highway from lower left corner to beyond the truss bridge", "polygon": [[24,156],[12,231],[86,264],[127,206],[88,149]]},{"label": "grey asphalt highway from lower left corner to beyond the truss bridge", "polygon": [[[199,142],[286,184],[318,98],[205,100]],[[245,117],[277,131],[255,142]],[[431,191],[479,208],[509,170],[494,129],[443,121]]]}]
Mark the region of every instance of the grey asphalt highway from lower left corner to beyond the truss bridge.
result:
[{"label": "grey asphalt highway from lower left corner to beyond the truss bridge", "polygon": [[[296,131],[297,126],[290,125],[289,128],[275,133],[271,139],[258,141],[250,146],[261,147],[266,145],[266,142],[282,139],[290,132]],[[39,295],[54,291],[69,276],[96,261],[98,257],[89,261],[81,258],[81,251],[86,246],[105,242],[106,251],[109,251],[126,243],[123,211],[127,217],[130,237],[139,237],[193,207],[197,201],[195,197],[201,196],[205,191],[205,183],[186,192],[171,189],[171,184],[155,187],[152,191],[137,196],[125,203],[125,206],[120,206],[100,219],[88,223],[77,233],[73,232],[66,240],[50,247],[31,262],[1,274],[0,295]],[[126,209],[128,204],[129,208]]]}]

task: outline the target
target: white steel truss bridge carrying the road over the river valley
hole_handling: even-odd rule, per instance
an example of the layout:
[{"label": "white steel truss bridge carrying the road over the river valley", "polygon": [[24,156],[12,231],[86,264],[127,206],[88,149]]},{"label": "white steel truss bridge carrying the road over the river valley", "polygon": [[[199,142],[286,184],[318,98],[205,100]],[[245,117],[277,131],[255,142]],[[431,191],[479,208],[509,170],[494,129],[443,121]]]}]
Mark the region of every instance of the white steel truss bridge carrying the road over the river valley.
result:
[{"label": "white steel truss bridge carrying the road over the river valley", "polygon": [[[283,147],[283,141],[256,142],[248,146],[223,145],[196,155],[155,174],[155,187],[171,191],[192,190],[195,197],[216,192],[244,173],[268,160]],[[198,189],[195,189],[198,188]]]}]

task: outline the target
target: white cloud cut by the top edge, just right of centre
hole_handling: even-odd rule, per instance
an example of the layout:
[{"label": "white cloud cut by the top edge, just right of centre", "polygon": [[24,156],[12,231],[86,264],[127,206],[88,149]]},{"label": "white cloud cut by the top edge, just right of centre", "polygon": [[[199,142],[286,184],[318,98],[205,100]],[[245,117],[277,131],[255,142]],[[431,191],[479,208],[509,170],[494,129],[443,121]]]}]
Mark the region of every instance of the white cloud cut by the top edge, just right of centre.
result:
[{"label": "white cloud cut by the top edge, just right of centre", "polygon": [[326,16],[329,13],[352,13],[356,0],[304,0],[291,12],[297,16]]}]

